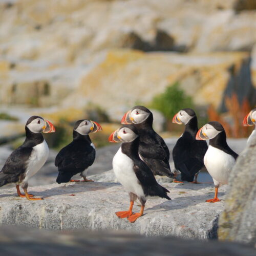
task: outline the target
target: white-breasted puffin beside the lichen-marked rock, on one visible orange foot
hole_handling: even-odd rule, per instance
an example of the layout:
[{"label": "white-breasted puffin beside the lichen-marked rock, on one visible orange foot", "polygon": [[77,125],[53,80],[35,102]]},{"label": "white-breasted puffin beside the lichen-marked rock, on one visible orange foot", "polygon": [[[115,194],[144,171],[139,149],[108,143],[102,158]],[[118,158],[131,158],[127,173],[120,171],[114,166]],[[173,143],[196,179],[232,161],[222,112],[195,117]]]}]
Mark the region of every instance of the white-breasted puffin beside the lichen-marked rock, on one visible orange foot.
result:
[{"label": "white-breasted puffin beside the lichen-marked rock, on one visible orange foot", "polygon": [[218,198],[218,188],[222,184],[228,184],[229,174],[236,163],[238,154],[228,146],[226,132],[221,123],[217,121],[208,122],[200,128],[196,139],[209,139],[209,147],[204,156],[204,165],[214,180],[215,197],[206,200],[206,202],[219,202],[221,200]]}]

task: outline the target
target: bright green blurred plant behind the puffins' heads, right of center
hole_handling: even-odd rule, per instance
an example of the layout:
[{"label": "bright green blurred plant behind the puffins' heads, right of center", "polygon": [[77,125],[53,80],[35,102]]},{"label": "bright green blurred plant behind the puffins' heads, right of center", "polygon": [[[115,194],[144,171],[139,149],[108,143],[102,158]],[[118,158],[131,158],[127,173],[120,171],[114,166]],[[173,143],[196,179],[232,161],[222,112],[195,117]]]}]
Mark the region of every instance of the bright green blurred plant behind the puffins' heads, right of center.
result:
[{"label": "bright green blurred plant behind the puffins' heads, right of center", "polygon": [[186,96],[179,88],[179,83],[176,82],[154,97],[151,108],[162,112],[167,119],[173,119],[178,111],[184,108],[194,108],[194,104],[192,98]]}]

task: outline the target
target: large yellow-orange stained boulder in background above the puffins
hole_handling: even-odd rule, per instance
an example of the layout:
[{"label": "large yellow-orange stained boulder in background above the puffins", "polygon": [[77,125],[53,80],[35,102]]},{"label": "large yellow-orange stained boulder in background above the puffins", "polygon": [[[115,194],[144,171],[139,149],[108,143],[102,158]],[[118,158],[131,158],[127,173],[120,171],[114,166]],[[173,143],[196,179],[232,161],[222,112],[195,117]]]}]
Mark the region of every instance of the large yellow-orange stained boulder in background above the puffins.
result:
[{"label": "large yellow-orange stained boulder in background above the puffins", "polygon": [[[241,80],[244,83],[240,83]],[[77,89],[63,99],[61,105],[82,108],[91,101],[106,109],[110,119],[117,121],[118,117],[120,121],[122,106],[149,104],[156,94],[176,81],[198,105],[213,104],[215,108],[222,108],[225,96],[231,91],[239,93],[240,100],[250,97],[252,101],[255,95],[247,53],[148,54],[111,50],[80,78]]]}]

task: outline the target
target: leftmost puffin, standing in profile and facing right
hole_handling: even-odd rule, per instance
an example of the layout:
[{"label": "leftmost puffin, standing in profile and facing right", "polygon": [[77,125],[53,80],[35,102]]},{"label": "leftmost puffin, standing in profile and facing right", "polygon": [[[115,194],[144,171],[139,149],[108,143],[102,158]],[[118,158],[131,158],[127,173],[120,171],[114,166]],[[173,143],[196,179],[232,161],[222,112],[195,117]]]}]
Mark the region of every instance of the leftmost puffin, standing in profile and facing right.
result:
[{"label": "leftmost puffin, standing in profile and facing right", "polygon": [[[43,198],[34,198],[32,194],[28,194],[28,180],[45,164],[49,155],[48,145],[41,133],[54,133],[55,127],[40,116],[31,116],[26,123],[25,132],[24,143],[11,153],[0,172],[0,186],[15,183],[19,197],[42,200]],[[20,192],[19,185],[25,195]]]}]

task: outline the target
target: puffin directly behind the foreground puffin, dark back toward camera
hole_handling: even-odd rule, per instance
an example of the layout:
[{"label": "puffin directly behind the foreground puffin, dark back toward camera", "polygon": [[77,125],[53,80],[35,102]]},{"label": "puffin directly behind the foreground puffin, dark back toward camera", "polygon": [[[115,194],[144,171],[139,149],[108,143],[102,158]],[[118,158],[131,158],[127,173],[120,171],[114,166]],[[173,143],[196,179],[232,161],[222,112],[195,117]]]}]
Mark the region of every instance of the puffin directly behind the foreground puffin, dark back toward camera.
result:
[{"label": "puffin directly behind the foreground puffin, dark back toward camera", "polygon": [[154,175],[174,178],[170,170],[169,150],[153,129],[153,114],[145,106],[135,106],[124,114],[121,124],[134,124],[139,134],[139,155]]}]

